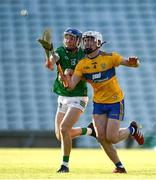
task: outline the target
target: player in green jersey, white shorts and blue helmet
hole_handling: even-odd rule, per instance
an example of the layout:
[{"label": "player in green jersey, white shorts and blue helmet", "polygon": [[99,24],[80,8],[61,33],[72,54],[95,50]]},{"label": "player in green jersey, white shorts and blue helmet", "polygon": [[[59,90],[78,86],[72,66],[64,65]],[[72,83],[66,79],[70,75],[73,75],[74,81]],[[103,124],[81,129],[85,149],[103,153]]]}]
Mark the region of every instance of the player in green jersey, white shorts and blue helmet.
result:
[{"label": "player in green jersey, white shorts and blue helmet", "polygon": [[[84,57],[83,50],[79,47],[82,33],[73,28],[64,32],[63,45],[58,47],[47,59],[46,66],[53,70],[53,65],[59,61],[63,72],[75,69],[77,63]],[[61,141],[62,164],[57,172],[69,172],[68,162],[72,147],[72,139],[80,135],[91,135],[95,137],[92,123],[86,128],[73,128],[80,115],[85,111],[88,97],[86,82],[81,80],[72,91],[64,88],[59,72],[54,82],[53,91],[58,95],[58,108],[55,117],[55,133]]]}]

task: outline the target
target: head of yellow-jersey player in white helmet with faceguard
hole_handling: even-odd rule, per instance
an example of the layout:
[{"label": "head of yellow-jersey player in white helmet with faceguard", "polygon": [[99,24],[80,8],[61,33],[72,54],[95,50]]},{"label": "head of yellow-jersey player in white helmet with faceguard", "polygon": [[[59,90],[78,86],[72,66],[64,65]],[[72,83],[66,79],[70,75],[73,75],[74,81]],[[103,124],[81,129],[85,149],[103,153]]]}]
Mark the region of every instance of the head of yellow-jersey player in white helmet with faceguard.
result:
[{"label": "head of yellow-jersey player in white helmet with faceguard", "polygon": [[99,49],[102,44],[102,35],[97,31],[87,31],[83,33],[83,49],[86,54],[90,54]]}]

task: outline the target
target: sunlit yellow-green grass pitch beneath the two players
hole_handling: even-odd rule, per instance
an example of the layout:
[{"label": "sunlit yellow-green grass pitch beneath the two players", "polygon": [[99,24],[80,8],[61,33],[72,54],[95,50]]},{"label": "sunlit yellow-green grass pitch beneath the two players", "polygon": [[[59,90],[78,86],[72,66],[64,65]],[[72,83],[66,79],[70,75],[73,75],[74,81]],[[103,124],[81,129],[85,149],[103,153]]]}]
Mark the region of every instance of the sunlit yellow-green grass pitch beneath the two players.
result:
[{"label": "sunlit yellow-green grass pitch beneath the two players", "polygon": [[73,149],[70,173],[58,174],[59,149],[0,149],[0,179],[156,180],[156,151],[118,150],[128,174],[112,174],[114,165],[101,149]]}]

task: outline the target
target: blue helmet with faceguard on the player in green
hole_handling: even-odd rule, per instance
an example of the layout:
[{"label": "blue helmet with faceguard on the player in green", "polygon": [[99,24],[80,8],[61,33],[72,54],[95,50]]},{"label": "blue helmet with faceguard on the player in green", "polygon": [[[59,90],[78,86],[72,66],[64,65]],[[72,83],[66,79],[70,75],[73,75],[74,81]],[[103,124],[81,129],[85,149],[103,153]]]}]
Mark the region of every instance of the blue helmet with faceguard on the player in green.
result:
[{"label": "blue helmet with faceguard on the player in green", "polygon": [[[70,35],[76,38],[75,41],[75,45],[73,45],[73,47],[68,47],[66,40],[65,40],[65,36],[66,35]],[[76,48],[78,48],[80,46],[81,43],[81,38],[82,38],[82,32],[79,31],[78,29],[73,29],[73,28],[68,28],[67,30],[64,31],[64,46],[68,51],[73,51]]]}]

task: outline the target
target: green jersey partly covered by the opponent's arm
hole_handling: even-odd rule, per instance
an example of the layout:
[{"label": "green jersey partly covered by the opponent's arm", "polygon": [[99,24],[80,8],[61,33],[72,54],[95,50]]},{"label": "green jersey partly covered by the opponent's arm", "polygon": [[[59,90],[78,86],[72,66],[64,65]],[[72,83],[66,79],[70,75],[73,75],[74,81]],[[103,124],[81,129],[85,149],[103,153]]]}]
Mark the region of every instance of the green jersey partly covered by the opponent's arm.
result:
[{"label": "green jersey partly covered by the opponent's arm", "polygon": [[[60,57],[59,62],[63,71],[65,71],[65,69],[67,68],[75,69],[77,63],[84,57],[84,52],[81,48],[78,49],[77,53],[73,54],[72,52],[68,52],[63,46],[61,46],[56,49],[56,52]],[[53,91],[61,96],[87,96],[87,85],[85,81],[81,80],[77,84],[75,89],[69,91],[64,88],[62,81],[59,80],[59,73],[57,72],[57,78],[54,82]]]}]

